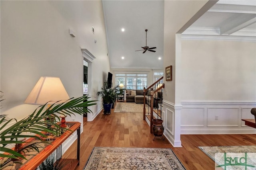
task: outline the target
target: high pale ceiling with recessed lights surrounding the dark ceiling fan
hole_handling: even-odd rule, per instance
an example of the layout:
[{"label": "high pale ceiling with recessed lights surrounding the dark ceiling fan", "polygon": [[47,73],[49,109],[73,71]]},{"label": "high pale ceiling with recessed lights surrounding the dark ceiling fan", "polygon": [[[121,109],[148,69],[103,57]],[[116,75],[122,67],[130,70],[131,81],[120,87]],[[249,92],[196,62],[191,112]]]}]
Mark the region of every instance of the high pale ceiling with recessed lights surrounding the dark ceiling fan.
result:
[{"label": "high pale ceiling with recessed lights surrounding the dark ceiling fan", "polygon": [[[103,9],[112,68],[162,68],[164,54],[164,1],[104,0]],[[125,31],[122,32],[121,28]],[[141,47],[156,47],[156,52]],[[121,57],[124,56],[124,60]]]}]

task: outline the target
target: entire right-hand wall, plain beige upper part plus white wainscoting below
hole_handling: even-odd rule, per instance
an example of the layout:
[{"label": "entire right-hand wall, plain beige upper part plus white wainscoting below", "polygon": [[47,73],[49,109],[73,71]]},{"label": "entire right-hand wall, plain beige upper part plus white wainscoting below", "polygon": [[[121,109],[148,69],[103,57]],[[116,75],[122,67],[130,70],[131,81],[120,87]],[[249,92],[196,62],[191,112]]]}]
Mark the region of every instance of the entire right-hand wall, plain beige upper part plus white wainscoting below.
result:
[{"label": "entire right-hand wall, plain beige upper part plus white wainscoting below", "polygon": [[255,47],[256,42],[182,41],[182,134],[255,133],[241,121],[254,118]]}]

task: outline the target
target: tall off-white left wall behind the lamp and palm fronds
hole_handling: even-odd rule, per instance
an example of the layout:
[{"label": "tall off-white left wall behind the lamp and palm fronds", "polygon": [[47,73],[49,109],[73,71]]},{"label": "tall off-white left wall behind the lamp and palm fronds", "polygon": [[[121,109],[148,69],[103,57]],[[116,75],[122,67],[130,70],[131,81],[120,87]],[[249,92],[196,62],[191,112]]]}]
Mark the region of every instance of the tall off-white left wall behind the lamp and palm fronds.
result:
[{"label": "tall off-white left wall behind the lamp and palm fronds", "polygon": [[[60,77],[70,97],[82,96],[81,49],[95,57],[92,96],[110,70],[101,1],[0,1],[1,113],[22,119],[36,106],[23,104],[40,76]],[[95,34],[91,28],[94,25]],[[76,37],[69,35],[72,28]],[[94,40],[97,43],[94,43]],[[95,100],[100,98],[94,98]],[[100,105],[99,105],[100,104]],[[94,115],[101,102],[92,107]],[[67,118],[70,120],[71,118]],[[82,121],[76,116],[75,121]],[[81,126],[82,128],[82,126]],[[82,129],[81,129],[82,130]]]}]

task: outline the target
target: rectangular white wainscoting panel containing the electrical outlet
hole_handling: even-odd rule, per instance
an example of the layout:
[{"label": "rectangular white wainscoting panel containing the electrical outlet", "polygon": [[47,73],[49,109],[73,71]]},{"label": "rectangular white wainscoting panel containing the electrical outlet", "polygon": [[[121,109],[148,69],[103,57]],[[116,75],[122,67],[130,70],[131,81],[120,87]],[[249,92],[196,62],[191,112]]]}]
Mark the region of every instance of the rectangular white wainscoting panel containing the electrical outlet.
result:
[{"label": "rectangular white wainscoting panel containing the electrical outlet", "polygon": [[208,107],[207,126],[238,127],[238,115],[239,107]]}]

